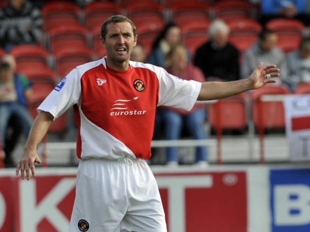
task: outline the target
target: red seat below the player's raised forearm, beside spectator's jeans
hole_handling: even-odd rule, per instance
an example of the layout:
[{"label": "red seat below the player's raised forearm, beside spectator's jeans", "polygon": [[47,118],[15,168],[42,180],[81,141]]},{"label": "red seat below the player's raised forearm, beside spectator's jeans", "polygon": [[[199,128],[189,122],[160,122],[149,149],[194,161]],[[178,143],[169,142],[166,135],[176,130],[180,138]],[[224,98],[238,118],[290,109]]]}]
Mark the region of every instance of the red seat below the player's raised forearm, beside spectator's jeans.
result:
[{"label": "red seat below the player's raised forearm, beside spectator's jeans", "polygon": [[247,126],[246,93],[218,100],[209,106],[209,121],[213,129],[239,129]]}]

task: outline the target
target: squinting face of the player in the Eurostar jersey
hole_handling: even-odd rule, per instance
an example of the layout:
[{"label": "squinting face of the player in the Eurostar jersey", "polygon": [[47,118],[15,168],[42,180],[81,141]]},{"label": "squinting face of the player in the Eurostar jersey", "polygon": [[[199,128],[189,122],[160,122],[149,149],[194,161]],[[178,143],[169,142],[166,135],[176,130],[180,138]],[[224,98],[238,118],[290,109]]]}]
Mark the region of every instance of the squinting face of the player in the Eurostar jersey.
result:
[{"label": "squinting face of the player in the Eurostar jersey", "polygon": [[130,54],[137,43],[137,36],[133,34],[128,22],[110,23],[107,25],[107,34],[101,38],[107,50],[107,58],[115,63],[123,63],[130,58]]}]

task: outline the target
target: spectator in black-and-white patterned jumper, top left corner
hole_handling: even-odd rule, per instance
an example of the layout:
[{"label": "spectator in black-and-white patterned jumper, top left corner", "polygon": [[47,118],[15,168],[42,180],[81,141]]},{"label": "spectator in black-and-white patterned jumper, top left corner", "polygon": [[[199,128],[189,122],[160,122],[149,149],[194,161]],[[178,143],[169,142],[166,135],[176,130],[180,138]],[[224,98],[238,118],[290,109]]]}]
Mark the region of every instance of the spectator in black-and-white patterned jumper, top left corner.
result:
[{"label": "spectator in black-and-white patterned jumper, top left corner", "polygon": [[0,10],[0,44],[7,52],[18,44],[39,43],[43,20],[28,0],[10,0]]}]

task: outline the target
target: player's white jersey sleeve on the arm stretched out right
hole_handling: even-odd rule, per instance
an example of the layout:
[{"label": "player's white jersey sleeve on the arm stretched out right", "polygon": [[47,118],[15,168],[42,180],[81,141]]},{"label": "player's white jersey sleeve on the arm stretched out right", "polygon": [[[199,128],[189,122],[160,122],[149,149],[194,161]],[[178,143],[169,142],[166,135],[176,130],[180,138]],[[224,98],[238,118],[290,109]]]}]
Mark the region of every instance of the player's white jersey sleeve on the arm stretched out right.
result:
[{"label": "player's white jersey sleeve on the arm stretched out right", "polygon": [[171,106],[190,111],[197,100],[201,83],[183,80],[159,67],[156,72],[159,80],[157,106]]}]

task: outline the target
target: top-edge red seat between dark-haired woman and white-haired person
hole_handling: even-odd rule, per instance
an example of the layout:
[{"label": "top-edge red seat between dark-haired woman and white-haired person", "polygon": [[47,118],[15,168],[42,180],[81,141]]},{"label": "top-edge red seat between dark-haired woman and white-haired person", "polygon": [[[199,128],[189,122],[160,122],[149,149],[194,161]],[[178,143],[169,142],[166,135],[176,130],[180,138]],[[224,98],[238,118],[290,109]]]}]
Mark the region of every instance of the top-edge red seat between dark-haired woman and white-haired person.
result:
[{"label": "top-edge red seat between dark-haired woman and white-haired person", "polygon": [[200,24],[201,21],[209,21],[210,6],[202,1],[185,0],[170,6],[172,20],[179,25],[188,21],[195,21]]}]

